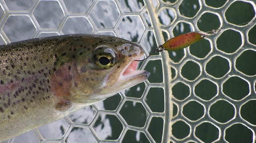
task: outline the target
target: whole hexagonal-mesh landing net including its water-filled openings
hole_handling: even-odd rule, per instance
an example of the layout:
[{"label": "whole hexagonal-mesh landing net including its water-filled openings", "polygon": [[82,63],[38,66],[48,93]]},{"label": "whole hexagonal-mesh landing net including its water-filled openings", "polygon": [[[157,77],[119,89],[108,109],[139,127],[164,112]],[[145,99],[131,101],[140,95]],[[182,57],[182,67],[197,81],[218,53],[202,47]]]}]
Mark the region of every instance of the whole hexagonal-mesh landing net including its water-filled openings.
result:
[{"label": "whole hexagonal-mesh landing net including its water-filled openings", "polygon": [[139,43],[148,55],[170,37],[223,30],[141,62],[140,69],[151,72],[145,83],[9,142],[255,141],[254,0],[1,0],[0,5],[0,44],[103,34]]}]

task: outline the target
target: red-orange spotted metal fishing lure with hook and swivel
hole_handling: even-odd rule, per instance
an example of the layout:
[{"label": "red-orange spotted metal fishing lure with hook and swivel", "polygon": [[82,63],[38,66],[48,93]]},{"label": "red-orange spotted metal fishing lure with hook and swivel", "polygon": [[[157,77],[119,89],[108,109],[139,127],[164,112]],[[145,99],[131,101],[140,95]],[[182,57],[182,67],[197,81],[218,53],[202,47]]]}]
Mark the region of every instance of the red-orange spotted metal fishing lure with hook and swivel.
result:
[{"label": "red-orange spotted metal fishing lure with hook and swivel", "polygon": [[[211,30],[211,31],[206,32],[206,33],[199,33],[199,32],[185,33],[185,34],[182,34],[182,35],[179,35],[177,37],[174,37],[174,38],[171,38],[171,39],[167,40],[163,45],[158,46],[154,50],[153,53],[161,52],[163,50],[167,50],[167,51],[181,50],[181,49],[184,49],[184,48],[186,48],[186,47],[204,39],[205,37],[208,37],[208,36],[211,36],[211,35],[214,35],[214,34],[218,34],[221,31],[222,31],[221,29],[218,29],[218,30]],[[143,60],[135,60],[135,61],[144,61],[148,57],[150,57],[153,53],[148,55]]]}]

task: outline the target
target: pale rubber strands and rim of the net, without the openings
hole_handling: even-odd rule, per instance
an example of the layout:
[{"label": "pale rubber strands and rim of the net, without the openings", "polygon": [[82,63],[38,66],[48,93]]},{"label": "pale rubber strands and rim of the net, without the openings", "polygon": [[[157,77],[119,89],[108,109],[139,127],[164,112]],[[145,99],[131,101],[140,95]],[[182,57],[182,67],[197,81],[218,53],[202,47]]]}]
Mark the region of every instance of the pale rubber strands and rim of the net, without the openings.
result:
[{"label": "pale rubber strands and rim of the net, without the openings", "polygon": [[[150,53],[152,49],[156,48],[153,46],[147,47],[148,44],[147,45],[144,44],[143,39],[146,37],[146,34],[148,32],[153,32],[156,38],[155,41],[157,45],[161,45],[162,43],[164,43],[164,37],[162,35],[162,32],[167,33],[168,38],[174,37],[173,30],[177,28],[176,25],[180,22],[189,24],[191,26],[192,31],[200,32],[200,29],[197,25],[197,22],[199,21],[200,17],[204,13],[212,13],[218,16],[220,21],[219,28],[221,28],[223,32],[225,32],[226,30],[233,30],[240,33],[242,44],[235,52],[226,53],[222,50],[219,50],[217,47],[216,41],[220,37],[220,34],[218,34],[216,36],[205,38],[210,43],[210,51],[204,58],[197,58],[195,55],[190,53],[189,48],[184,49],[184,55],[182,56],[182,59],[180,59],[178,62],[174,62],[170,60],[169,59],[170,53],[168,52],[162,52],[159,55],[153,55],[150,58],[148,58],[145,62],[142,63],[141,69],[144,69],[147,66],[148,62],[150,61],[161,60],[162,71],[163,71],[162,72],[163,82],[152,83],[148,80],[145,81],[145,90],[141,98],[127,97],[125,96],[125,92],[121,92],[120,93],[121,100],[115,110],[104,110],[99,108],[98,105],[92,105],[92,108],[94,108],[95,110],[95,115],[92,121],[88,124],[74,123],[69,117],[66,117],[65,120],[68,123],[69,127],[67,128],[67,130],[65,130],[65,133],[63,133],[61,137],[56,137],[51,139],[45,138],[41,135],[41,131],[35,129],[33,130],[33,132],[36,138],[38,139],[37,142],[66,142],[66,139],[72,132],[73,128],[86,129],[87,131],[89,131],[88,133],[91,134],[93,138],[95,138],[95,142],[122,142],[124,141],[123,140],[124,136],[128,130],[133,130],[133,131],[136,131],[137,133],[140,132],[145,134],[149,142],[157,142],[156,138],[153,137],[154,135],[152,135],[148,131],[152,118],[154,117],[160,117],[163,119],[163,129],[160,130],[160,132],[162,132],[162,137],[160,139],[161,142],[205,142],[205,140],[202,140],[202,138],[198,137],[196,134],[196,130],[197,129],[199,130],[198,127],[204,123],[210,123],[212,126],[214,126],[214,128],[218,129],[218,137],[214,140],[211,140],[212,142],[228,142],[225,139],[226,130],[230,128],[232,125],[236,125],[236,124],[241,124],[247,129],[249,129],[252,133],[252,142],[255,141],[256,125],[251,124],[241,116],[241,108],[247,102],[255,100],[256,75],[246,75],[245,73],[239,71],[236,67],[236,60],[246,50],[256,51],[256,45],[252,44],[249,41],[249,36],[248,36],[248,33],[251,30],[251,28],[255,26],[256,16],[254,14],[254,17],[247,24],[242,26],[228,22],[225,17],[225,12],[230,7],[230,5],[232,5],[234,2],[237,2],[237,1],[226,1],[226,3],[222,7],[214,8],[214,7],[207,6],[204,0],[199,0],[198,1],[199,10],[195,14],[195,16],[185,17],[179,12],[179,6],[183,3],[183,0],[178,0],[175,3],[165,3],[160,0],[157,2],[144,0],[144,6],[142,5],[138,11],[131,10],[131,12],[125,11],[122,9],[123,3],[124,3],[123,1],[113,0],[111,1],[111,3],[113,3],[116,6],[119,16],[116,19],[116,22],[114,23],[113,26],[106,27],[106,28],[97,27],[98,26],[97,23],[93,20],[92,15],[90,15],[93,9],[98,4],[98,2],[102,2],[102,1],[96,1],[96,0],[93,1],[88,6],[88,10],[81,13],[70,13],[66,7],[65,2],[63,2],[62,0],[54,1],[58,3],[59,8],[63,13],[63,18],[59,22],[58,26],[55,28],[42,28],[42,25],[39,24],[39,22],[37,21],[38,19],[36,19],[36,17],[34,16],[33,12],[40,2],[41,2],[40,0],[35,0],[31,3],[31,6],[28,8],[28,10],[15,11],[15,10],[10,10],[8,8],[7,3],[4,0],[0,1],[0,5],[4,11],[3,17],[0,21],[0,26],[2,29],[0,31],[0,35],[3,38],[5,43],[10,43],[15,41],[15,40],[14,41],[10,40],[10,36],[7,34],[9,32],[5,31],[5,29],[7,30],[7,28],[4,28],[5,23],[7,22],[8,18],[11,16],[27,16],[31,20],[32,25],[35,27],[35,32],[32,34],[32,37],[30,38],[41,37],[40,34],[45,34],[45,33],[63,35],[65,34],[63,33],[63,26],[65,25],[65,23],[69,18],[74,18],[74,17],[86,18],[90,26],[92,26],[93,28],[91,34],[111,32],[117,37],[125,38],[123,37],[123,33],[121,33],[119,30],[122,19],[127,16],[138,16],[141,23],[143,23],[142,25],[144,30],[142,30],[143,32],[139,36],[140,38],[138,38],[139,40],[137,41],[137,43],[143,46],[143,48],[145,49],[145,55],[148,55],[148,53]],[[256,11],[255,1],[247,0],[247,1],[240,1],[240,2],[249,3],[253,7],[254,12]],[[138,2],[138,5],[139,5],[139,2]],[[158,20],[158,16],[160,12],[165,9],[172,10],[175,15],[174,19],[171,20],[171,22],[168,23],[167,25],[161,24]],[[145,17],[144,15],[145,12],[147,12],[150,19]],[[148,23],[151,23],[152,26],[148,25]],[[24,40],[24,39],[19,39],[19,40]],[[212,58],[214,58],[214,56],[221,56],[222,58],[228,61],[229,70],[222,77],[212,76],[206,71],[207,63]],[[200,69],[200,74],[193,80],[189,80],[183,77],[181,73],[183,66],[188,61],[196,63]],[[171,68],[175,70],[175,76],[173,77],[173,79],[171,75],[172,73]],[[246,81],[249,89],[248,95],[246,95],[244,98],[240,100],[234,100],[229,96],[225,95],[225,93],[223,92],[223,84],[230,77],[239,77],[242,80]],[[198,97],[195,93],[195,87],[197,86],[197,84],[200,83],[200,81],[204,79],[207,79],[210,82],[217,85],[216,96],[212,97],[210,100],[204,100]],[[189,95],[182,100],[177,99],[172,95],[172,89],[174,85],[179,82],[182,82],[189,88]],[[151,88],[164,89],[164,103],[163,103],[164,111],[163,112],[153,112],[151,107],[147,105],[147,102],[146,102],[147,93]],[[228,102],[234,109],[234,116],[225,123],[221,123],[210,116],[210,107],[220,100]],[[125,101],[132,101],[132,102],[140,103],[143,105],[143,107],[146,110],[146,122],[143,127],[136,127],[136,126],[127,124],[125,119],[122,117],[122,115],[120,115],[119,111],[121,110]],[[183,115],[183,108],[190,101],[196,101],[203,107],[203,110],[204,110],[203,116],[195,121],[190,120],[185,115]],[[177,106],[177,113],[174,117],[173,117],[173,105]],[[108,139],[102,139],[98,136],[98,133],[94,129],[94,124],[96,123],[100,115],[114,115],[120,121],[120,123],[123,126],[123,129],[120,132],[120,135],[117,139],[108,140]],[[172,135],[172,125],[174,125],[179,121],[185,123],[189,127],[188,134],[181,138],[175,135]],[[28,141],[29,140],[30,139],[28,139]],[[18,142],[18,140],[13,138],[8,142]]]}]

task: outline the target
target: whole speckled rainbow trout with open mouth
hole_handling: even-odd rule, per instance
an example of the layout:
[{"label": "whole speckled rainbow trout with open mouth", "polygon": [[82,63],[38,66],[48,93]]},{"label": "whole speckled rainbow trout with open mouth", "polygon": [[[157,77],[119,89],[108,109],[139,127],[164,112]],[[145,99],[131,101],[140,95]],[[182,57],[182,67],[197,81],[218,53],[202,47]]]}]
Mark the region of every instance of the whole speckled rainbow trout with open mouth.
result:
[{"label": "whole speckled rainbow trout with open mouth", "polygon": [[0,46],[0,142],[143,82],[142,48],[113,36],[65,35]]}]

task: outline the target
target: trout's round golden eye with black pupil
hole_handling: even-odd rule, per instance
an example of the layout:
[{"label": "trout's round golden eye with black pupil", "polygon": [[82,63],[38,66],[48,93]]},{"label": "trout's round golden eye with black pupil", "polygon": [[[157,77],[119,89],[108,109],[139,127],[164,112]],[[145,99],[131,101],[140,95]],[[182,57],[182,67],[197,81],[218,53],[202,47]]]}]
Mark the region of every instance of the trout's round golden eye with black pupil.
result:
[{"label": "trout's round golden eye with black pupil", "polygon": [[109,69],[116,62],[117,52],[106,45],[100,45],[93,51],[94,64],[101,69]]}]

